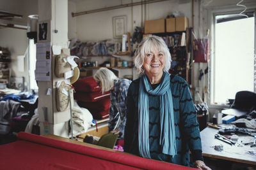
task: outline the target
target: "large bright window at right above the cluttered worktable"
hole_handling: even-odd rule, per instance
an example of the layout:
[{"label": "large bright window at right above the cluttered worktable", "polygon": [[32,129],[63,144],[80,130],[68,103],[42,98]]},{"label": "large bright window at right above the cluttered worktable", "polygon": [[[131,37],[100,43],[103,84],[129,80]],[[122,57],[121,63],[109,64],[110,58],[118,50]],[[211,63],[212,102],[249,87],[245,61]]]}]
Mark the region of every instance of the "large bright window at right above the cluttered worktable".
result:
[{"label": "large bright window at right above the cluttered worktable", "polygon": [[213,13],[211,103],[225,104],[241,90],[255,91],[255,12]]}]

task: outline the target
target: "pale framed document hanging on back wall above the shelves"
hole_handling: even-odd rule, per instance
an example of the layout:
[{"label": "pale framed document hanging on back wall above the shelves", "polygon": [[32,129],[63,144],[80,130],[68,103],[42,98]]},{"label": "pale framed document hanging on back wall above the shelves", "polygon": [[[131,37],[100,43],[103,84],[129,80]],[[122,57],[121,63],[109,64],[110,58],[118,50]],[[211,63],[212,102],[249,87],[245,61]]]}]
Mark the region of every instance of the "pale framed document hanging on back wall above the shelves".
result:
[{"label": "pale framed document hanging on back wall above the shelves", "polygon": [[113,38],[122,38],[123,34],[127,32],[127,17],[117,16],[113,17]]}]

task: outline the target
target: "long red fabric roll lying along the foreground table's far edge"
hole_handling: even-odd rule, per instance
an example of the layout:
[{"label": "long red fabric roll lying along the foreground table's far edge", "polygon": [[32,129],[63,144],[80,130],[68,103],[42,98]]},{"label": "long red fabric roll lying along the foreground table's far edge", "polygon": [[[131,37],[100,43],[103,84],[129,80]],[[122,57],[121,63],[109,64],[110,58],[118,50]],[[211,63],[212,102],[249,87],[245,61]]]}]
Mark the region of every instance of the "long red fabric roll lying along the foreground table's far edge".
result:
[{"label": "long red fabric roll lying along the foreground table's far edge", "polygon": [[[18,138],[24,139],[26,141],[31,141],[34,143],[39,143],[41,145],[51,146],[53,148],[60,148],[61,150],[67,150],[74,153],[81,153],[83,155],[90,155],[90,157],[97,158],[98,161],[99,159],[108,160],[114,164],[119,163],[122,165],[134,167],[135,169],[136,168],[185,169],[185,170],[192,169],[191,167],[179,166],[176,164],[170,164],[167,162],[161,162],[161,161],[152,160],[152,159],[144,159],[142,157],[127,155],[124,153],[111,152],[108,150],[100,150],[98,148],[92,148],[90,146],[83,146],[83,145],[78,145],[74,143],[68,143],[65,141],[59,141],[57,139],[46,138],[44,136],[38,136],[35,134],[29,134],[26,132],[19,132]],[[22,155],[20,155],[20,157],[22,157]],[[51,157],[51,155],[49,155],[49,157]],[[40,160],[40,157],[37,159],[38,161],[44,161],[44,160]],[[28,160],[28,164],[29,164],[29,160]],[[86,166],[88,165],[84,164],[84,169],[86,169]],[[89,167],[88,169],[92,169],[92,167],[91,168]],[[118,168],[115,168],[115,169],[118,169]]]}]

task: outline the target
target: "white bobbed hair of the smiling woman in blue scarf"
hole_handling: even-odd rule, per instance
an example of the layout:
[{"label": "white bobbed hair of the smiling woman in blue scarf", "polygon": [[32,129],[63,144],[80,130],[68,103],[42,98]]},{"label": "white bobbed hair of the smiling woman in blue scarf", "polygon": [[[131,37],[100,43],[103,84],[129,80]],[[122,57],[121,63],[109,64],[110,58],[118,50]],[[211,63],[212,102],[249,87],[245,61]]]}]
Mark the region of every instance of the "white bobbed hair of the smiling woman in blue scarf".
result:
[{"label": "white bobbed hair of the smiling woman in blue scarf", "polygon": [[145,69],[143,68],[145,55],[152,52],[154,49],[164,53],[166,62],[163,71],[169,71],[172,58],[168,46],[164,42],[163,38],[159,36],[148,36],[143,38],[134,55],[134,66],[140,74],[144,74],[145,72]]}]

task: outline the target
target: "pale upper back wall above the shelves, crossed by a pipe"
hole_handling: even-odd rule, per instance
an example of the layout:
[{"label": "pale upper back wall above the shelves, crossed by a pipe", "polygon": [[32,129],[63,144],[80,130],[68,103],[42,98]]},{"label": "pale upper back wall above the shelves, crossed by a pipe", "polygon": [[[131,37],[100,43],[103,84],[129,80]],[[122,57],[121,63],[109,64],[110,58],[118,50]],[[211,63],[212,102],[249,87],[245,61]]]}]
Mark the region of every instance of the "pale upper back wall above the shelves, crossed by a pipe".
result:
[{"label": "pale upper back wall above the shelves, crossed by a pipe", "polygon": [[[127,4],[132,1],[81,1],[76,3],[76,12],[117,6],[121,2],[122,4]],[[138,2],[138,0],[133,1],[133,3],[135,2]],[[72,17],[70,22],[73,22],[72,20],[76,18],[76,38],[81,41],[97,41],[113,39],[113,17],[127,16],[127,31],[133,32],[136,26],[143,26],[145,20],[166,18],[167,15],[171,15],[174,11],[180,11],[182,15],[186,15],[189,18],[189,25],[191,25],[191,1],[186,1],[185,3],[179,3],[179,1],[163,1],[142,6],[138,5],[116,10],[100,11]]]}]

